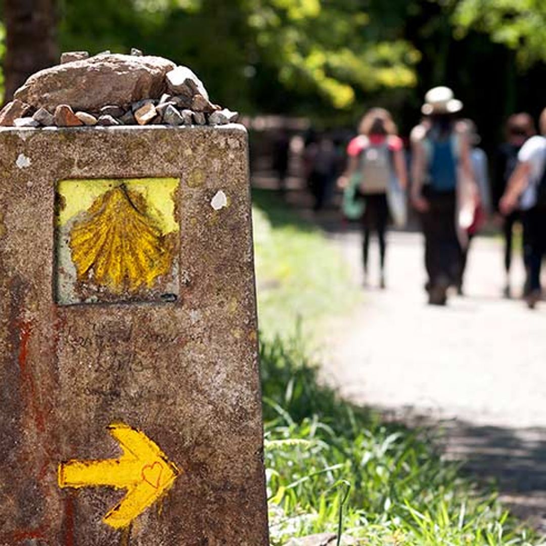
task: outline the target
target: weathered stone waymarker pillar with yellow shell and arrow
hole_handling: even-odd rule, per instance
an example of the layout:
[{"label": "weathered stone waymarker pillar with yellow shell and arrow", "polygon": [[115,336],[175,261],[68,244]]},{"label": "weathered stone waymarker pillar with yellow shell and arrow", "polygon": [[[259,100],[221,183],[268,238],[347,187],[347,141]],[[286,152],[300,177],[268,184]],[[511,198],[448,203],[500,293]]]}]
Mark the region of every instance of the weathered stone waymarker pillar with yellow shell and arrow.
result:
[{"label": "weathered stone waymarker pillar with yellow shell and arrow", "polygon": [[0,150],[0,544],[268,544],[244,128]]}]

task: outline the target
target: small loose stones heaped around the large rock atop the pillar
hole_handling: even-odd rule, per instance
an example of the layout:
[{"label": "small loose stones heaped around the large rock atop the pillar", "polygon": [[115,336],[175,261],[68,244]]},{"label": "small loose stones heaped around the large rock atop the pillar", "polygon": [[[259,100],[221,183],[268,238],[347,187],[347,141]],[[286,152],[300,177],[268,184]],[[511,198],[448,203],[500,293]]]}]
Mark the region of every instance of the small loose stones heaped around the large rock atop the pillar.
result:
[{"label": "small loose stones heaped around the large rock atop the pillar", "polygon": [[[109,51],[99,55],[111,56]],[[133,49],[131,55],[141,57],[142,52]],[[85,51],[63,53],[61,65],[88,58]],[[164,80],[165,92],[160,97],[143,98],[126,104],[106,104],[93,111],[82,111],[70,104],[57,104],[55,108],[48,109],[32,106],[15,98],[0,112],[0,126],[215,126],[233,123],[239,117],[238,112],[211,103],[203,83],[187,67],[177,66],[169,70],[164,75]]]}]

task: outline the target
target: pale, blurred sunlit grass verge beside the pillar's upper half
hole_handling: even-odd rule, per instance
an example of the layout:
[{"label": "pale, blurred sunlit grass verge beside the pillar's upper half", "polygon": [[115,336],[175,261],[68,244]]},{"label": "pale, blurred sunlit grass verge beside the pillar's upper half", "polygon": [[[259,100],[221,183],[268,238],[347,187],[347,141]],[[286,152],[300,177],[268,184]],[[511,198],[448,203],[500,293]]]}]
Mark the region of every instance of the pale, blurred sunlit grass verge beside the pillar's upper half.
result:
[{"label": "pale, blurred sunlit grass verge beside the pillar's upper half", "polygon": [[304,334],[316,336],[361,295],[319,229],[272,192],[255,190],[253,200],[260,330],[269,337],[287,336],[301,318]]}]

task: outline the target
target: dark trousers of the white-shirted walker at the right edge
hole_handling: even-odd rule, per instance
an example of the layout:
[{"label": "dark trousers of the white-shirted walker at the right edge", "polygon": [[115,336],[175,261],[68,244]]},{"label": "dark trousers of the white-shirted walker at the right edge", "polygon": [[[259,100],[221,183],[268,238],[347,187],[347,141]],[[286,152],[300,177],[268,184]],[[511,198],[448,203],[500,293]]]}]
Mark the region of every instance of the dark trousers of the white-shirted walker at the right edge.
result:
[{"label": "dark trousers of the white-shirted walker at the right edge", "polygon": [[524,213],[523,252],[527,269],[526,287],[530,292],[541,289],[541,266],[546,256],[546,206]]}]

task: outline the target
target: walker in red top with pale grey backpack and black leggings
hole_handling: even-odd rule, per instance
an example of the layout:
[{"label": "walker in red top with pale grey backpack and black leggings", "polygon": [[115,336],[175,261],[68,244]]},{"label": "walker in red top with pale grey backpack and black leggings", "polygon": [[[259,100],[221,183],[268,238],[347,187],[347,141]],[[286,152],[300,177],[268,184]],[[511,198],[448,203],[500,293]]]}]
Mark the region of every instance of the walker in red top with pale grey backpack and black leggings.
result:
[{"label": "walker in red top with pale grey backpack and black leggings", "polygon": [[[347,147],[347,155],[348,167],[338,185],[345,189],[345,202],[349,201],[344,205],[346,216],[361,216],[364,283],[367,283],[370,238],[375,231],[379,242],[379,287],[385,288],[389,212],[396,223],[403,222],[403,191],[407,185],[403,143],[387,110],[372,108],[366,113],[359,124],[359,135]],[[349,212],[351,207],[354,212]]]}]

